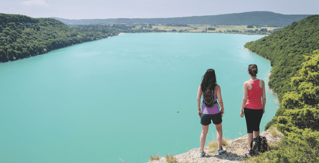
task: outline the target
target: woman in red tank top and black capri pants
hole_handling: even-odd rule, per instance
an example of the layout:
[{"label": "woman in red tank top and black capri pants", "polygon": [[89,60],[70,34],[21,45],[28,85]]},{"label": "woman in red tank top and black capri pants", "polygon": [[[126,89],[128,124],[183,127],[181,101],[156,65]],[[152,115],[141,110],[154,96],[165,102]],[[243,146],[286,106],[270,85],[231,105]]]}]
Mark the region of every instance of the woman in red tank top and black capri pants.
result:
[{"label": "woman in red tank top and black capri pants", "polygon": [[257,79],[258,68],[257,65],[248,66],[249,81],[244,82],[244,98],[241,103],[240,116],[246,119],[247,125],[247,141],[248,150],[251,149],[250,142],[253,138],[259,136],[259,125],[263,113],[265,113],[266,94],[265,82]]}]

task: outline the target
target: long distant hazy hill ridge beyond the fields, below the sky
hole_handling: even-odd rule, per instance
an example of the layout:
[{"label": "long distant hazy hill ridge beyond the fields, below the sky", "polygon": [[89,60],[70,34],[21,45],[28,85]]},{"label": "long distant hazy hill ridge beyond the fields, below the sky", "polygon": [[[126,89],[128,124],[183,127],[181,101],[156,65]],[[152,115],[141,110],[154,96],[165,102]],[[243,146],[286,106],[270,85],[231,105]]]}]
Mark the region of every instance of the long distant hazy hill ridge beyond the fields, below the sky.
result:
[{"label": "long distant hazy hill ridge beyond the fields, below the sky", "polygon": [[284,15],[269,11],[252,11],[234,14],[192,16],[179,18],[109,18],[109,19],[63,19],[54,18],[67,25],[88,24],[211,24],[211,25],[272,25],[285,26],[310,15]]}]

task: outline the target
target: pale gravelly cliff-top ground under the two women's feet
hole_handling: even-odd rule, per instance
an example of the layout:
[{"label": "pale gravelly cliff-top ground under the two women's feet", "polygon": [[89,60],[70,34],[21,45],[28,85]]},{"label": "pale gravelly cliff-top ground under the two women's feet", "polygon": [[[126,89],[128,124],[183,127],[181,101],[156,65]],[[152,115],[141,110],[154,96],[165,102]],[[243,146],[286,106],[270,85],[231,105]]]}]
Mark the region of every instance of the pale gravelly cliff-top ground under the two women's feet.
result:
[{"label": "pale gravelly cliff-top ground under the two women's feet", "polygon": [[[273,137],[268,131],[269,130],[260,133],[261,136],[266,137],[268,143],[276,143],[281,140],[281,137]],[[200,148],[191,149],[189,152],[178,154],[174,157],[177,159],[178,163],[238,163],[244,159],[245,152],[248,149],[247,135],[234,140],[228,140],[226,149],[226,154],[218,155],[217,151],[212,153],[207,152],[208,146],[205,146],[204,151],[206,154],[203,158],[199,157]],[[148,163],[167,163],[167,161],[165,157],[161,157],[159,160],[153,160]]]}]

